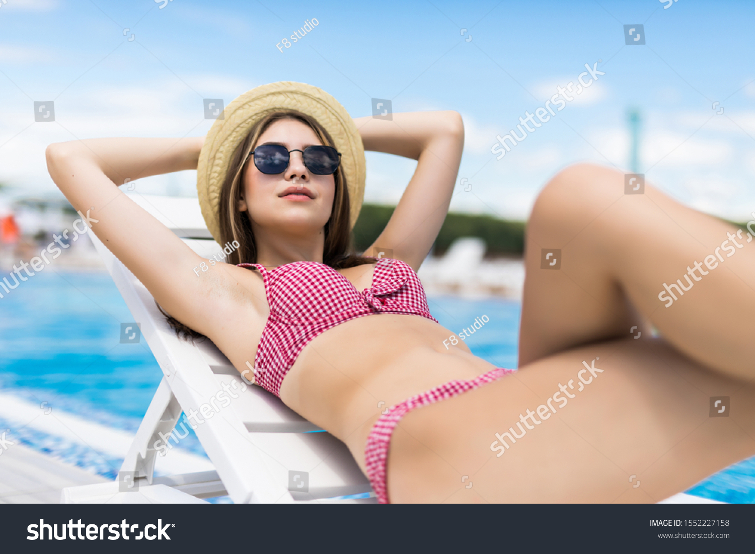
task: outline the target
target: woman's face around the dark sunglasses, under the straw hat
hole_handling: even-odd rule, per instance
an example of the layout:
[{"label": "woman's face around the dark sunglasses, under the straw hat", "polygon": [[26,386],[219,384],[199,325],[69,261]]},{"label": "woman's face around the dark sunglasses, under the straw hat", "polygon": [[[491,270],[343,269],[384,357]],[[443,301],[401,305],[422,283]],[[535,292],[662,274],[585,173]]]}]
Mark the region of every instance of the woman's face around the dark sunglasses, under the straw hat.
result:
[{"label": "woman's face around the dark sunglasses, under the straw hat", "polygon": [[[302,151],[307,146],[322,145],[309,125],[295,119],[279,119],[257,140],[257,146],[270,143]],[[289,156],[283,173],[267,175],[257,169],[250,155],[239,211],[248,210],[252,225],[269,231],[317,233],[331,216],[334,177],[310,173],[304,167],[302,152],[291,152]]]}]

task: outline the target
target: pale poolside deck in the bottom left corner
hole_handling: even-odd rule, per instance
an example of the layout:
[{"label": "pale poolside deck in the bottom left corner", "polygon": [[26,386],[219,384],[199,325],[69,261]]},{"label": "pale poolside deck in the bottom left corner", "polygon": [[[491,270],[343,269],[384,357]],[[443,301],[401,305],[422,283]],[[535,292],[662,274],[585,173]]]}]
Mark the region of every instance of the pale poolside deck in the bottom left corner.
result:
[{"label": "pale poolside deck in the bottom left corner", "polygon": [[18,443],[0,456],[0,503],[59,503],[65,487],[105,481]]}]

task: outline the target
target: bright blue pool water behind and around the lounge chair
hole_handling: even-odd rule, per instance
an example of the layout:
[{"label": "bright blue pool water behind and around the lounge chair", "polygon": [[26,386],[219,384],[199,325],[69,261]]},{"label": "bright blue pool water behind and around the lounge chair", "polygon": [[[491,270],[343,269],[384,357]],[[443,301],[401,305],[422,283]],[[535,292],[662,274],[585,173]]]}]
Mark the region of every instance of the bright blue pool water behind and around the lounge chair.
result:
[{"label": "bright blue pool water behind and around the lounge chair", "polygon": [[[516,368],[519,307],[506,300],[430,298],[430,311],[456,333],[487,315],[489,321],[467,344],[476,355],[504,368]],[[162,372],[143,340],[120,343],[122,322],[131,322],[131,314],[109,275],[35,275],[0,299],[0,388],[135,432]],[[9,426],[0,419],[0,429]],[[17,429],[16,436],[31,448],[109,478],[122,462],[32,429]],[[183,439],[181,447],[204,455],[196,436]],[[753,503],[755,459],[716,473],[688,492]]]}]

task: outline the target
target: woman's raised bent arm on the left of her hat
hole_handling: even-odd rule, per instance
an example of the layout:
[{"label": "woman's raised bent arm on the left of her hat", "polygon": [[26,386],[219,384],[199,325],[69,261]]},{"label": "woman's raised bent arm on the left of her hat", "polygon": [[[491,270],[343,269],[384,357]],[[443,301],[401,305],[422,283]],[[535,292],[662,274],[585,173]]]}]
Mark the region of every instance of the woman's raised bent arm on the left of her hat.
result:
[{"label": "woman's raised bent arm on the left of her hat", "polygon": [[116,183],[196,169],[203,142],[203,137],[104,138],[54,143],[46,152],[52,179],[73,208],[85,214],[90,230],[168,313],[200,333],[212,312],[207,291],[214,287],[208,281],[220,278],[210,274],[219,272],[196,275],[192,268],[204,258]]}]

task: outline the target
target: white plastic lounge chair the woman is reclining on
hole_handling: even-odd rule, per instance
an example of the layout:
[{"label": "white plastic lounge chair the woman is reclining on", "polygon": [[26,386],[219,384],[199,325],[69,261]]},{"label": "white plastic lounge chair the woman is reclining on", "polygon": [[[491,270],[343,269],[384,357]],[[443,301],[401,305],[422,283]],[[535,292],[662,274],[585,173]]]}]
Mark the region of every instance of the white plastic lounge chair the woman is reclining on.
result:
[{"label": "white plastic lounge chair the woman is reclining on", "polygon": [[[196,199],[131,195],[204,257],[220,253]],[[95,248],[125,300],[164,374],[115,482],[64,488],[63,503],[193,503],[230,495],[235,503],[374,503],[368,479],[343,442],[287,408],[259,386],[248,386],[210,340],[180,340],[149,291],[90,233]],[[237,396],[223,404],[223,383]],[[245,392],[241,392],[245,388]],[[217,408],[196,428],[215,471],[153,476],[162,437],[182,411]],[[199,416],[203,417],[203,416]],[[196,421],[196,420],[195,420]],[[187,427],[187,426],[186,426]],[[172,441],[171,441],[172,444]],[[171,456],[170,451],[166,454]],[[340,499],[356,494],[370,497]]]}]

